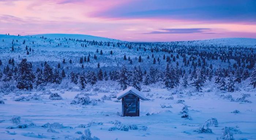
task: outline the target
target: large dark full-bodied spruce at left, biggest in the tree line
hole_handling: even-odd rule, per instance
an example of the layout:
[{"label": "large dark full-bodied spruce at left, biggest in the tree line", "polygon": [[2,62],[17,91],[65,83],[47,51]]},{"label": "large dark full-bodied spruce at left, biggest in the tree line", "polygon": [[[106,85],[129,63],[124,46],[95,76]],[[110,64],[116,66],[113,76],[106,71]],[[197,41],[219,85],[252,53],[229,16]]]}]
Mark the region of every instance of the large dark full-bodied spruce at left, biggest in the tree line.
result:
[{"label": "large dark full-bodied spruce at left, biggest in the tree line", "polygon": [[18,74],[18,83],[17,88],[19,89],[33,89],[34,83],[34,73],[32,69],[32,65],[27,63],[27,59],[22,59],[19,64],[19,74]]}]

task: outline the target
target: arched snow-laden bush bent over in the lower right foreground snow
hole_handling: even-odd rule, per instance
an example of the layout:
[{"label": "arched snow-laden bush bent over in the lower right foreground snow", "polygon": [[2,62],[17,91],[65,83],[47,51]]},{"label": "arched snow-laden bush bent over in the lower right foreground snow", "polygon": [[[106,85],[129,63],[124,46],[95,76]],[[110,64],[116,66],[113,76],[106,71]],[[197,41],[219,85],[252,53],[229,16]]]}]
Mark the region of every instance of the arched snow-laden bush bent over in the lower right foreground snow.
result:
[{"label": "arched snow-laden bush bent over in the lower right foreground snow", "polygon": [[202,126],[197,130],[198,133],[212,133],[212,129],[209,127],[214,126],[218,127],[218,121],[215,118],[208,119],[204,122]]}]

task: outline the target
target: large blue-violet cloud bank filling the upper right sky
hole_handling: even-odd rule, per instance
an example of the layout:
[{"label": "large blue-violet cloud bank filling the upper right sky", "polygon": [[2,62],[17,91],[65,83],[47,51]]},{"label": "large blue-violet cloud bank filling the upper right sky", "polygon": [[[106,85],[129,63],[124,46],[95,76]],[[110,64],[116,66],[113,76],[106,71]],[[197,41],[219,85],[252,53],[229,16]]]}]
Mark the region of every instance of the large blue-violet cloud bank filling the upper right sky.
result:
[{"label": "large blue-violet cloud bank filling the upper right sky", "polygon": [[256,22],[256,0],[134,0],[93,16]]}]

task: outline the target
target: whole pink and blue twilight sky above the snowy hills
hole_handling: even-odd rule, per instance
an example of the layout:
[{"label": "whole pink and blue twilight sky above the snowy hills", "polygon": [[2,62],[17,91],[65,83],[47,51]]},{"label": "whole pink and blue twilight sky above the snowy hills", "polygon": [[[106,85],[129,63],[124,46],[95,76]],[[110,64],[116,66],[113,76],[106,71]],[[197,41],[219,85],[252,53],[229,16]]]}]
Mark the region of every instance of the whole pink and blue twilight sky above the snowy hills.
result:
[{"label": "whole pink and blue twilight sky above the snowy hills", "polygon": [[0,0],[0,34],[74,33],[125,41],[256,38],[253,1],[181,1]]}]

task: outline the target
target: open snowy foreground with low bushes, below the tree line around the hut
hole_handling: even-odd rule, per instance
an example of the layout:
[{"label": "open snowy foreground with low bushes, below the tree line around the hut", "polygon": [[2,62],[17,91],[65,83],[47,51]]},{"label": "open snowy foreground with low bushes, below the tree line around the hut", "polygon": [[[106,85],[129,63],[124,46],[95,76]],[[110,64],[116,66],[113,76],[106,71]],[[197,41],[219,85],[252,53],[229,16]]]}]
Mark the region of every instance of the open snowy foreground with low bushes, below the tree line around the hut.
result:
[{"label": "open snowy foreground with low bushes, below the tree line around the hut", "polygon": [[[82,92],[74,87],[70,91],[53,88],[44,92],[1,93],[4,104],[0,104],[0,139],[254,140],[256,137],[256,90],[251,86],[230,93],[212,86],[194,92],[192,88],[168,90],[155,84],[142,88],[147,100],[140,101],[140,117],[121,117],[117,83],[106,83],[98,82]],[[71,104],[73,100],[75,104]]]}]

